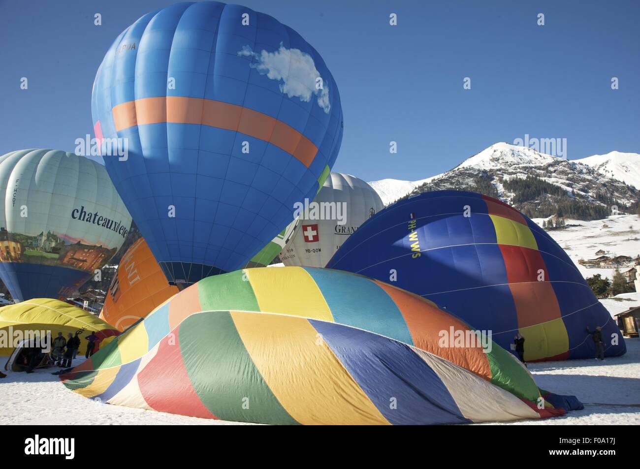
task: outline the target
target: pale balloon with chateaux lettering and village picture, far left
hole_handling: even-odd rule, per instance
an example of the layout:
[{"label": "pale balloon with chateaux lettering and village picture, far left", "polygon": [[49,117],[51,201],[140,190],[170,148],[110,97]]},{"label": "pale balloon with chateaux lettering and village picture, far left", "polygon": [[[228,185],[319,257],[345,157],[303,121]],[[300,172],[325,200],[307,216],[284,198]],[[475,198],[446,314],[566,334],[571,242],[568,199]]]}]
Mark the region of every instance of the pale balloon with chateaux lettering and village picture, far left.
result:
[{"label": "pale balloon with chateaux lettering and village picture, far left", "polygon": [[0,156],[0,196],[0,278],[16,301],[67,298],[131,227],[104,166],[72,153]]}]

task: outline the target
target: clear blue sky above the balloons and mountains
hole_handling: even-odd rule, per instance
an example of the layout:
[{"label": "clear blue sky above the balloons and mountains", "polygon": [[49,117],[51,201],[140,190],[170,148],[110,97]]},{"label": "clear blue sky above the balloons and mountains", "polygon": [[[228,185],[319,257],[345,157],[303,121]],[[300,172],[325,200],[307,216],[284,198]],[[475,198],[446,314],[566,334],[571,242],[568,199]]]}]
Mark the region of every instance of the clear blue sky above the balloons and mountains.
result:
[{"label": "clear blue sky above the balloons and mountains", "polygon": [[[0,154],[73,151],[92,132],[93,77],[109,45],[171,3],[0,0]],[[240,3],[296,29],[332,71],[344,110],[336,171],[422,179],[525,134],[566,138],[569,159],[640,152],[637,0]]]}]

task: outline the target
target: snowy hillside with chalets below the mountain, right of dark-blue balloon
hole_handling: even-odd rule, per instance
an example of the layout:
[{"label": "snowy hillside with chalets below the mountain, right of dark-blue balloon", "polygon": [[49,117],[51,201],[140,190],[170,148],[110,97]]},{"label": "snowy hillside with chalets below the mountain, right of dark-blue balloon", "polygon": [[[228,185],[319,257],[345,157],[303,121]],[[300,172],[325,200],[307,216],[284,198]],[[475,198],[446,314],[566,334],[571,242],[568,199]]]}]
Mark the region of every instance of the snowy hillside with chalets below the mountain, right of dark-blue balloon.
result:
[{"label": "snowy hillside with chalets below the mountain, right of dark-blue balloon", "polygon": [[[534,218],[542,225],[545,218]],[[583,277],[600,274],[611,279],[614,269],[589,269],[578,264],[580,259],[598,257],[596,251],[603,250],[609,257],[640,255],[640,218],[637,215],[612,215],[603,220],[564,220],[567,225],[578,225],[564,230],[551,230],[548,234],[564,249],[580,270]],[[604,228],[607,225],[607,228]],[[621,267],[625,271],[630,267]]]}]

